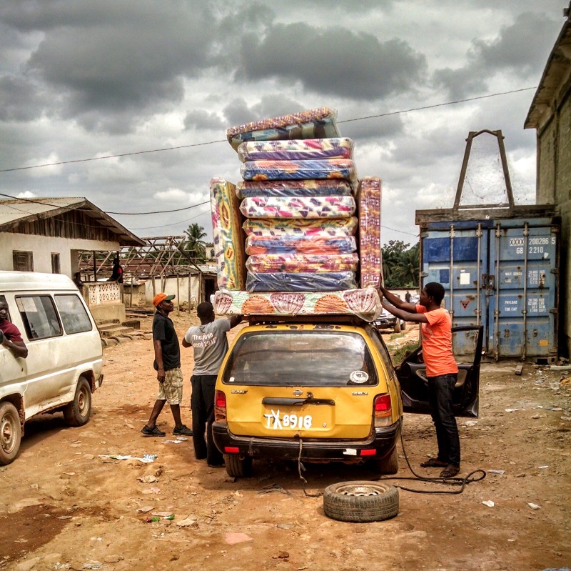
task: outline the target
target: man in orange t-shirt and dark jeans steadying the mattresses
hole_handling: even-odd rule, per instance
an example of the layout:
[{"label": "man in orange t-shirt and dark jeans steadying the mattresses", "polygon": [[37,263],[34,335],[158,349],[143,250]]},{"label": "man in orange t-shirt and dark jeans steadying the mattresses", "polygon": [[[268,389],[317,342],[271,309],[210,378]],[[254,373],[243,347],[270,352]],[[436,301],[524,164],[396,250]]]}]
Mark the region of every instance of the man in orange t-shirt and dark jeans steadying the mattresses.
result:
[{"label": "man in orange t-shirt and dark jeans steadying the mattresses", "polygon": [[385,299],[381,304],[390,313],[413,323],[420,323],[423,359],[428,377],[428,402],[436,429],[438,456],[429,458],[422,467],[442,467],[440,477],[451,478],[460,472],[460,437],[453,411],[453,391],[458,379],[458,365],[452,352],[452,318],[440,307],[444,288],[438,282],[426,284],[418,305],[403,302],[380,287]]}]

